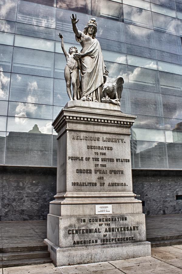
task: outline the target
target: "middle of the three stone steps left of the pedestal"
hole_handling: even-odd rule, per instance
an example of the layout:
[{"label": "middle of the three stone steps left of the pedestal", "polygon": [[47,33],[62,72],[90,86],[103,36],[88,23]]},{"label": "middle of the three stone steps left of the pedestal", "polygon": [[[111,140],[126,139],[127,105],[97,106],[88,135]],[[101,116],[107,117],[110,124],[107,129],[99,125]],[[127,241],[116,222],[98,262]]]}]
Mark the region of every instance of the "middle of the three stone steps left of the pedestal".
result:
[{"label": "middle of the three stone steps left of the pedestal", "polygon": [[0,253],[3,261],[17,260],[17,259],[30,259],[30,258],[45,258],[50,257],[49,251],[14,251]]}]

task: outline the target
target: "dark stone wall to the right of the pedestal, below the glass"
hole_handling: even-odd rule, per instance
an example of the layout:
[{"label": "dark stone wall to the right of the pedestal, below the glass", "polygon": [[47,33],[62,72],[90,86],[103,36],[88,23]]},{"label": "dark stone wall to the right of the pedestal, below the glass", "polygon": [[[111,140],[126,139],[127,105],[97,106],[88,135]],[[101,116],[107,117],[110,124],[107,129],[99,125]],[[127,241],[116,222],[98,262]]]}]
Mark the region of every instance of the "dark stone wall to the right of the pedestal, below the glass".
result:
[{"label": "dark stone wall to the right of the pedestal, below the glass", "polygon": [[182,213],[182,170],[132,170],[133,192],[146,215]]}]

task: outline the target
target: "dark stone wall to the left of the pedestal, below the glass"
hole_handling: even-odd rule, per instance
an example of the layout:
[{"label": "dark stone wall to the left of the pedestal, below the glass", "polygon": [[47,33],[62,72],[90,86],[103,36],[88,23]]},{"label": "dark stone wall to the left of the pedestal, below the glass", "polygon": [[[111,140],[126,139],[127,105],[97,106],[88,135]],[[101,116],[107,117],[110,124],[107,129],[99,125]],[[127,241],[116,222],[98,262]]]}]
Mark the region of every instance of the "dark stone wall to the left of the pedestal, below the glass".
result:
[{"label": "dark stone wall to the left of the pedestal, below the glass", "polygon": [[46,220],[56,168],[0,166],[1,221]]}]

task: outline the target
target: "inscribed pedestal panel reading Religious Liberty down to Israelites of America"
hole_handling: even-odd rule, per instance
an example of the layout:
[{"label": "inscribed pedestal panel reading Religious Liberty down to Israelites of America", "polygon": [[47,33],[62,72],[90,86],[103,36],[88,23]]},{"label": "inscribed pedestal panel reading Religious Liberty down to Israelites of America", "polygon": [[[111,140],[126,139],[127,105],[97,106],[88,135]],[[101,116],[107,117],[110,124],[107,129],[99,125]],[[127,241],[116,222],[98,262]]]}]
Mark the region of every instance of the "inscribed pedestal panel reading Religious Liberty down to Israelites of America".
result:
[{"label": "inscribed pedestal panel reading Religious Liberty down to Israelites of America", "polygon": [[128,135],[68,132],[67,138],[69,191],[131,190]]}]

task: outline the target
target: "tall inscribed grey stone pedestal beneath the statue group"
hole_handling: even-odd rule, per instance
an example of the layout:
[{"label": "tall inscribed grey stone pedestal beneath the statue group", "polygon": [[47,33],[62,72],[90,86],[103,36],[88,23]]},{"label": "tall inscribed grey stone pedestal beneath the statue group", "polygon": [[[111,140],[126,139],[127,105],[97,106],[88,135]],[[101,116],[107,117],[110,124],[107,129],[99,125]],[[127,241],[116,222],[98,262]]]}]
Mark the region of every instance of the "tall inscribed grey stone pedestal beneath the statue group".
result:
[{"label": "tall inscribed grey stone pedestal beneath the statue group", "polygon": [[130,127],[112,104],[69,101],[58,133],[57,193],[47,219],[57,266],[150,256],[141,201],[132,191]]}]

